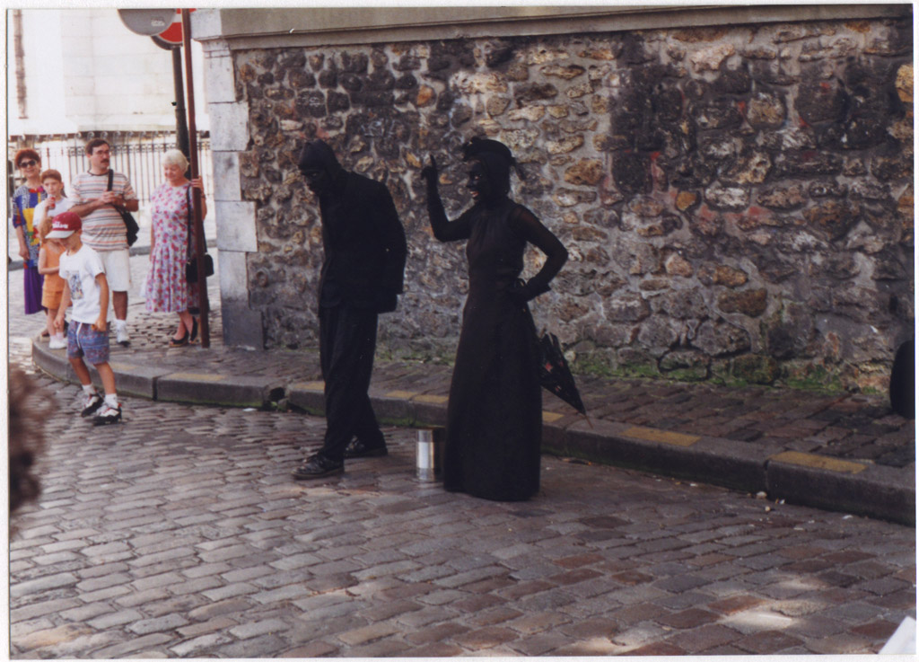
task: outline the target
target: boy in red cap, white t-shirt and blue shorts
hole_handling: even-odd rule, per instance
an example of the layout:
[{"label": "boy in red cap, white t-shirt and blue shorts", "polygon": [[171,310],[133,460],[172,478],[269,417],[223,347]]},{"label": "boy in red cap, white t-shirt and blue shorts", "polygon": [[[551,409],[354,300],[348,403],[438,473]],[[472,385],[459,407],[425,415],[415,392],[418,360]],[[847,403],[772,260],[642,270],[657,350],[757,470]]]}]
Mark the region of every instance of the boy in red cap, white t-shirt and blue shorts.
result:
[{"label": "boy in red cap, white t-shirt and blue shorts", "polygon": [[[54,319],[54,328],[63,330],[64,311],[71,302],[70,327],[67,330],[67,358],[83,385],[85,394],[81,416],[96,413],[95,425],[108,425],[121,420],[121,405],[115,392],[115,372],[108,365],[108,280],[102,260],[96,251],[81,240],[83,223],[73,211],[57,214],[51,223],[50,239],[59,239],[66,248],[58,272],[64,280],[61,308]],[[89,375],[84,360],[96,368],[102,379],[106,396],[103,400]]]}]

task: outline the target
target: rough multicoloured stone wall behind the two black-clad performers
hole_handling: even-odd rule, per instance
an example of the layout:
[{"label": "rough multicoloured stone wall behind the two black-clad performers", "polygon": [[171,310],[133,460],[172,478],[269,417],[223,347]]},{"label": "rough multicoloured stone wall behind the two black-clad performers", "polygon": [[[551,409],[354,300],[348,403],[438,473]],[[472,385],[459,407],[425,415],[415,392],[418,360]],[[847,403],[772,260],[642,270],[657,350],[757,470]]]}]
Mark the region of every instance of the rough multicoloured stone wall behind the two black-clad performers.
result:
[{"label": "rough multicoloured stone wall behind the two black-clad performers", "polygon": [[478,134],[511,147],[514,197],[569,249],[532,308],[577,369],[882,389],[913,334],[912,31],[910,17],[233,51],[248,308],[268,347],[315,344],[322,241],[295,163],[322,137],[387,184],[408,235],[381,348],[451,358],[465,257],[432,238],[418,172],[437,156],[455,217],[459,145]]}]

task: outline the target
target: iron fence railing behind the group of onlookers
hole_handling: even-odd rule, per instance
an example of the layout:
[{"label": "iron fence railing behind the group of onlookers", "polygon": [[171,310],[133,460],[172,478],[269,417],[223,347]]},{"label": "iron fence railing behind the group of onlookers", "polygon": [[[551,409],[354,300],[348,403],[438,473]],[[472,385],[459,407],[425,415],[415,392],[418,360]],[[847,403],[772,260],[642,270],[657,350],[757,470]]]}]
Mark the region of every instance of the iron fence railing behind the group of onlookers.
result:
[{"label": "iron fence railing behind the group of onlookers", "polygon": [[[85,143],[93,138],[105,138],[112,149],[112,167],[130,179],[141,205],[150,201],[153,190],[165,181],[162,158],[176,148],[175,131],[84,131],[51,135],[10,136],[6,143],[6,167],[10,193],[22,183],[13,165],[17,150],[30,147],[41,156],[41,168],[58,170],[65,187],[78,173],[88,167]],[[205,194],[212,191],[210,133],[199,131],[199,172],[204,177]]]}]

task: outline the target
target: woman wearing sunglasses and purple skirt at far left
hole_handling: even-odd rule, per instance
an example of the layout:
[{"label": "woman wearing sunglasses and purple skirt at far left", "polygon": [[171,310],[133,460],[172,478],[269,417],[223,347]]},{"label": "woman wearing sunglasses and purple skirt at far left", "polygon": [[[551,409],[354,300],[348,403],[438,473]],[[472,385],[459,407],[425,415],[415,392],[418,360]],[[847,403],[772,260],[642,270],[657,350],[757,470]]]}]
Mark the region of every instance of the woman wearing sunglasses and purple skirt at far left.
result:
[{"label": "woman wearing sunglasses and purple skirt at far left", "polygon": [[22,257],[23,278],[26,283],[26,314],[40,313],[41,285],[44,280],[39,273],[39,235],[32,223],[35,208],[48,197],[41,188],[41,158],[32,149],[21,149],[16,153],[14,163],[26,183],[13,193],[13,227],[19,240],[19,256]]}]

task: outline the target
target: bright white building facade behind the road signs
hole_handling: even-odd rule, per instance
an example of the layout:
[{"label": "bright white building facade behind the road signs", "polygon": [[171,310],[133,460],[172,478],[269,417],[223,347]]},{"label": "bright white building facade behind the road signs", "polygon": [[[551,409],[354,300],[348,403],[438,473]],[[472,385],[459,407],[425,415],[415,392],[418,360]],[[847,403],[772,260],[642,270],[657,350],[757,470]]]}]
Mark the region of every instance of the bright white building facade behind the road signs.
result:
[{"label": "bright white building facade behind the road signs", "polygon": [[[176,127],[170,52],[131,32],[114,7],[10,9],[6,24],[8,135]],[[207,131],[200,45],[192,51],[196,121]]]}]

